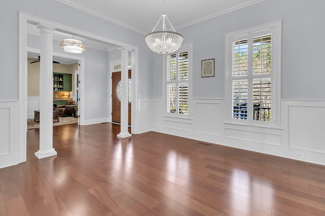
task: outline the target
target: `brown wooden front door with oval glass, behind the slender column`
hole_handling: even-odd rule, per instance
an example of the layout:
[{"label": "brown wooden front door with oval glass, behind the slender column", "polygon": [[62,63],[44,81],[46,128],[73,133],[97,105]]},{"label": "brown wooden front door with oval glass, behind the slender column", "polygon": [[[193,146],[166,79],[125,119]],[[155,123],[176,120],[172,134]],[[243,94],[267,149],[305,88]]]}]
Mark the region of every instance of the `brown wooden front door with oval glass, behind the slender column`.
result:
[{"label": "brown wooden front door with oval glass, behind the slender column", "polygon": [[[128,79],[131,80],[131,70],[128,70]],[[112,73],[112,122],[116,123],[121,123],[120,81],[121,71]],[[128,103],[128,125],[131,125],[131,101]]]}]

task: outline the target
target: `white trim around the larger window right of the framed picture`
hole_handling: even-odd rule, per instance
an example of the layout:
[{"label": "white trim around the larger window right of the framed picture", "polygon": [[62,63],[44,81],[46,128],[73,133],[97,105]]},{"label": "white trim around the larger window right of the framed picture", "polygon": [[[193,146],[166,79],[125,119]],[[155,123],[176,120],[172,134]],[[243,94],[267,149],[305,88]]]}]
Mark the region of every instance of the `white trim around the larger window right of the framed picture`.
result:
[{"label": "white trim around the larger window right of the framed picture", "polygon": [[[234,37],[241,37],[242,35],[254,34],[254,32],[264,31],[266,29],[273,29],[272,47],[275,52],[272,53],[272,62],[274,73],[272,75],[272,106],[274,106],[272,113],[272,121],[243,121],[242,119],[232,118],[232,41]],[[282,52],[282,20],[270,22],[267,24],[226,33],[225,34],[225,113],[227,123],[237,123],[242,125],[254,125],[262,127],[280,127],[280,110],[281,110],[281,52]]]}]

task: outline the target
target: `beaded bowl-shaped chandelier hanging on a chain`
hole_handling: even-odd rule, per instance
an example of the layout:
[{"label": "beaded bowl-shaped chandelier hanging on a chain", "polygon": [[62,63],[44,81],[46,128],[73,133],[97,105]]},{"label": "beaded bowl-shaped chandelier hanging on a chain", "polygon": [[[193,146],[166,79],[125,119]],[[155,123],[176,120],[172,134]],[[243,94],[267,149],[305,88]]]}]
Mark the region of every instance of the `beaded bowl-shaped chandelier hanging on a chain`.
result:
[{"label": "beaded bowl-shaped chandelier hanging on a chain", "polygon": [[[163,30],[154,31],[160,20],[163,19]],[[173,31],[166,30],[166,19]],[[172,23],[169,21],[165,15],[165,0],[164,0],[164,14],[161,15],[157,24],[154,26],[152,31],[148,33],[145,37],[145,41],[150,50],[159,54],[170,54],[179,49],[183,43],[183,36],[180,33],[177,33],[172,26]]]}]

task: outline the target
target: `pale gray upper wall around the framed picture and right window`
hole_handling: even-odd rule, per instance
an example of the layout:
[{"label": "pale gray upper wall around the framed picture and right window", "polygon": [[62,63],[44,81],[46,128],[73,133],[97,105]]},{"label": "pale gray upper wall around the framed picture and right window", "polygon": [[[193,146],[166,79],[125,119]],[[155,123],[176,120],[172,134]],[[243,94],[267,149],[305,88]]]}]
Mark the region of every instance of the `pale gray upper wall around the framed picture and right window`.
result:
[{"label": "pale gray upper wall around the framed picture and right window", "polygon": [[[193,97],[224,98],[226,33],[282,20],[282,99],[325,99],[324,11],[321,0],[267,0],[179,29],[184,43],[193,43]],[[201,78],[201,60],[211,58],[215,77]]]}]

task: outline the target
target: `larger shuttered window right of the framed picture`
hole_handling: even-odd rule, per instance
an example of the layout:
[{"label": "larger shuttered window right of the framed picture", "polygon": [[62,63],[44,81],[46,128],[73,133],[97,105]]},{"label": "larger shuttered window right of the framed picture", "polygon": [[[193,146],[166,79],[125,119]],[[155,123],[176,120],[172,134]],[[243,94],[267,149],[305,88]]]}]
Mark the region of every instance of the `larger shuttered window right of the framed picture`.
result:
[{"label": "larger shuttered window right of the framed picture", "polygon": [[280,100],[281,22],[226,35],[229,119],[275,126]]}]

